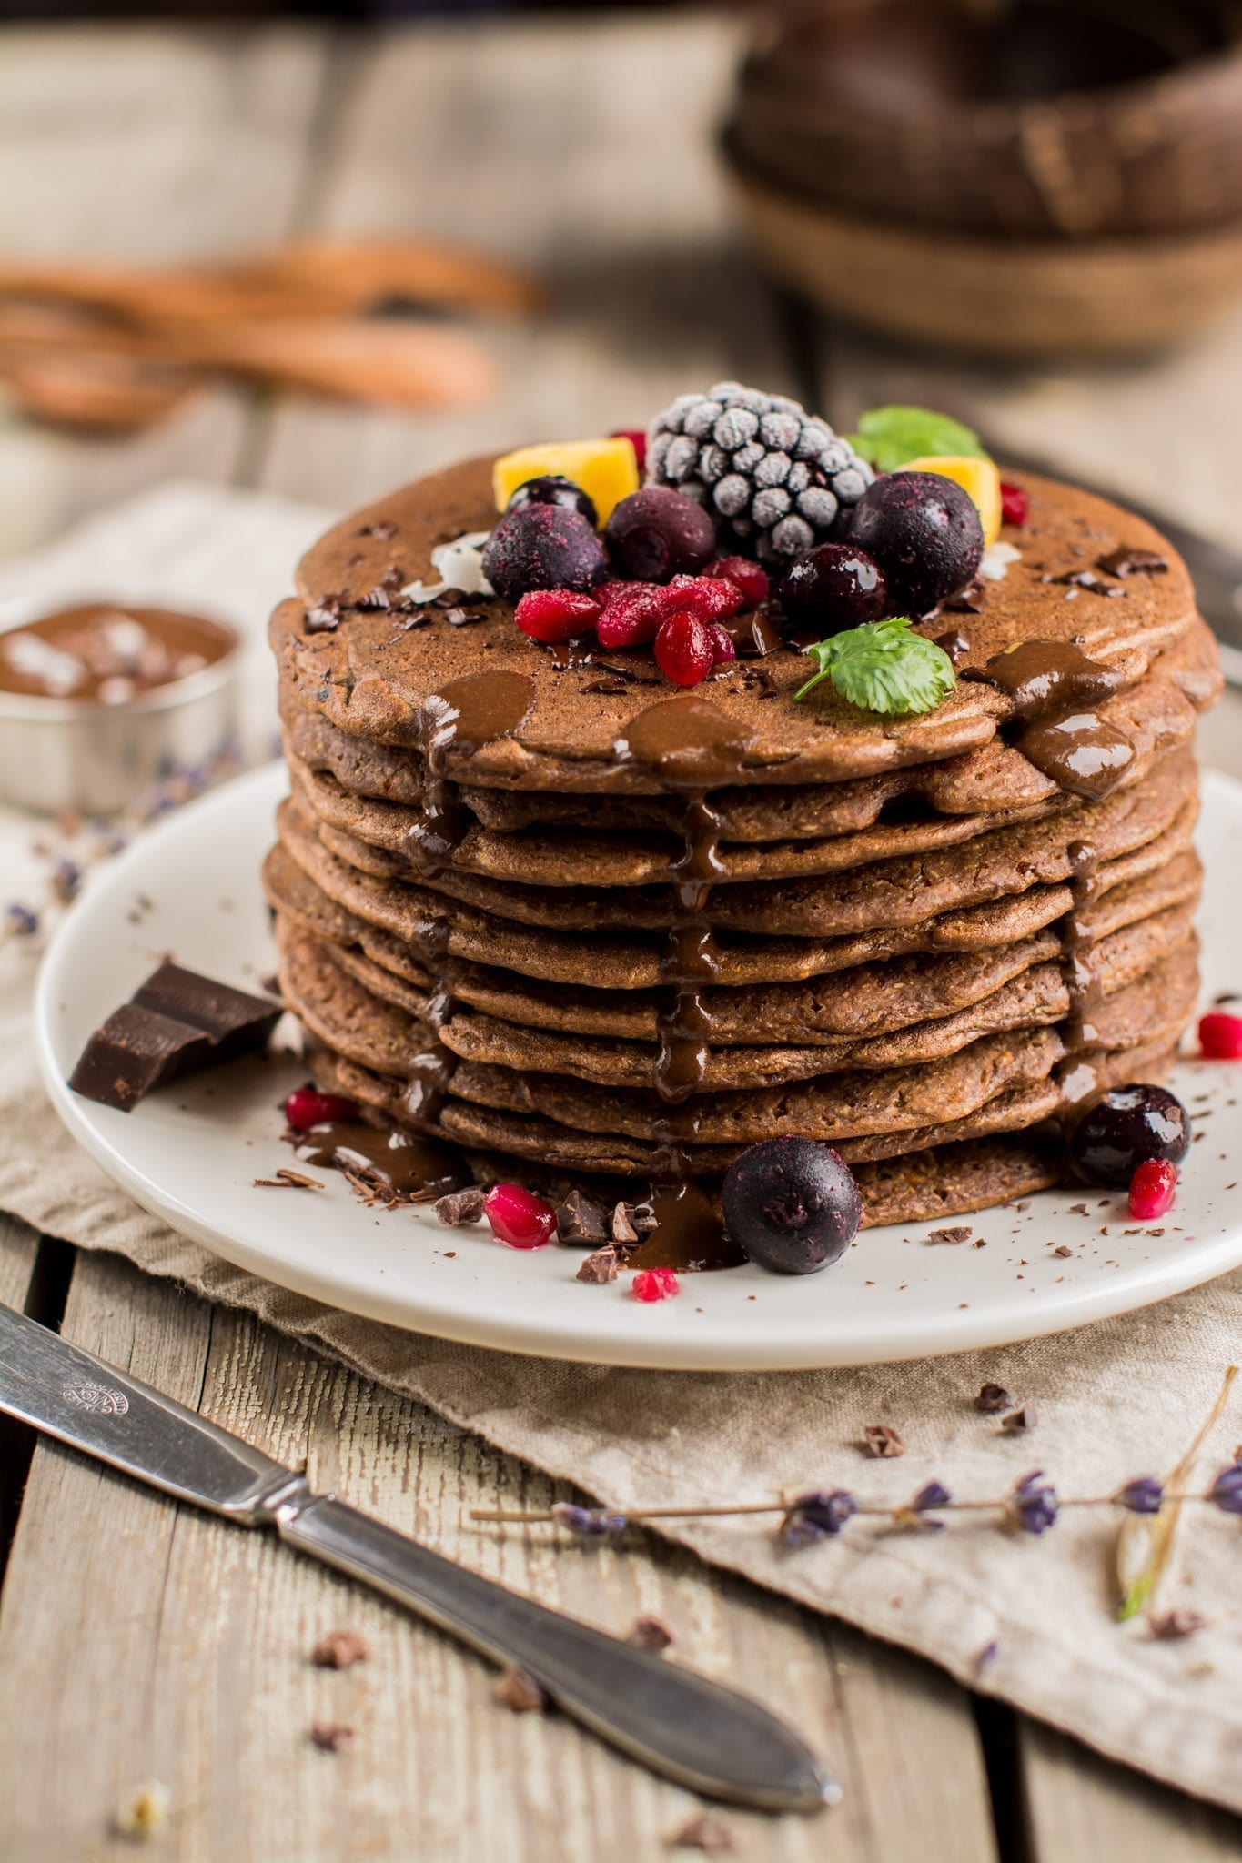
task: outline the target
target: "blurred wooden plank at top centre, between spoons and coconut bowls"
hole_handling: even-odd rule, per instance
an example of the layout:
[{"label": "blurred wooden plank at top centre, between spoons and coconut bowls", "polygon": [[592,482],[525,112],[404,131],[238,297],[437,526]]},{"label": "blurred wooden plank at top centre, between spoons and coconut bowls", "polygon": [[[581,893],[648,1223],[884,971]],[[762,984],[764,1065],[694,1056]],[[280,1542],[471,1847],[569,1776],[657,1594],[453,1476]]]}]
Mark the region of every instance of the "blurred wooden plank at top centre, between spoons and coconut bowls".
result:
[{"label": "blurred wooden plank at top centre, between spoons and coconut bowls", "polygon": [[553,304],[480,328],[505,371],[482,408],[285,402],[263,483],[348,509],[467,453],[644,425],[719,376],[788,388],[711,155],[734,50],[685,15],[387,35],[343,108],[315,224],[466,242],[536,268]]}]

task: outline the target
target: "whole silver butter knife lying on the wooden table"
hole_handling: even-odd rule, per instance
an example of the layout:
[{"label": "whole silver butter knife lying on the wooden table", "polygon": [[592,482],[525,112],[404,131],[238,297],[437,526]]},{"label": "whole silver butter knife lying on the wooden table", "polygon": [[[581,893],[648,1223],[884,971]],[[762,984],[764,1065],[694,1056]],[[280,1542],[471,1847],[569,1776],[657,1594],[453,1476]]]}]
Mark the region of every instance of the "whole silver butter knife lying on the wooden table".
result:
[{"label": "whole silver butter knife lying on the wooden table", "polygon": [[516,1664],[603,1740],[709,1798],[817,1811],[840,1788],[767,1708],[467,1572],[127,1371],[0,1304],[0,1410],[384,1591],[493,1662]]}]

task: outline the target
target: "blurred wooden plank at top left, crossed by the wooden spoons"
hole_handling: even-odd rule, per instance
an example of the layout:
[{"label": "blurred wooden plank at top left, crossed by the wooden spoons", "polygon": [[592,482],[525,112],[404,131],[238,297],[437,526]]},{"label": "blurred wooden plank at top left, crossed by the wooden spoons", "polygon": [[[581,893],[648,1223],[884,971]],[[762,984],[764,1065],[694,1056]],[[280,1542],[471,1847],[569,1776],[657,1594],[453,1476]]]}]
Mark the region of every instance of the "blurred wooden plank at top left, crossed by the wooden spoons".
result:
[{"label": "blurred wooden plank at top left, crossed by the wooden spoons", "polygon": [[[153,261],[283,235],[324,76],[324,39],[290,28],[7,28],[0,250]],[[233,477],[251,423],[233,388],[132,440],[0,414],[0,555],[160,479]]]}]

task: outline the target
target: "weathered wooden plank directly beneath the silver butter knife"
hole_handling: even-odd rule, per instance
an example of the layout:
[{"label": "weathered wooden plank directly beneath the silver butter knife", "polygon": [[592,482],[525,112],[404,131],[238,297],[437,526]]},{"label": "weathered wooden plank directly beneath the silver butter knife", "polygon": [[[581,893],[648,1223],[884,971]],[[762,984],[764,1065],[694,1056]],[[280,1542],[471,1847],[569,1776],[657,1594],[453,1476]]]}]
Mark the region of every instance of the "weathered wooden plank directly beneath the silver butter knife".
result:
[{"label": "weathered wooden plank directly beneath the silver butter knife", "polygon": [[[991,1863],[968,1716],[925,1666],[657,1541],[473,1526],[497,1492],[542,1507],[562,1490],[123,1261],[80,1259],[63,1330],[479,1571],[618,1634],[663,1617],[676,1660],[793,1716],[845,1802],[819,1820],[724,1813],[747,1857],[810,1863],[830,1843],[840,1863],[888,1863],[935,1839],[937,1857]],[[339,1626],[371,1658],[313,1667]],[[352,1747],[318,1751],[317,1721],[350,1725]],[[151,1777],[175,1813],[160,1854],[229,1863],[657,1857],[696,1809],[574,1723],[497,1707],[492,1671],[402,1611],[56,1446],[35,1455],[4,1591],[0,1753],[0,1856],[22,1863],[112,1856],[114,1807]]]}]

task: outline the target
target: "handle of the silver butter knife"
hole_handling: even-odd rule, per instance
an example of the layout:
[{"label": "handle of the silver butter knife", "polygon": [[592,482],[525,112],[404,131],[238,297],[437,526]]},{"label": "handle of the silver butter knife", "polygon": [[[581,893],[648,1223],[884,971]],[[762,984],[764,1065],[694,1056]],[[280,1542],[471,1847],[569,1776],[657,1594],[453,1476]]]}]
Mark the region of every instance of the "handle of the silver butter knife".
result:
[{"label": "handle of the silver butter knife", "polygon": [[525,1669],[566,1714],[680,1785],[767,1811],[817,1811],[836,1796],[810,1747],[756,1701],[469,1572],[333,1496],[277,1507],[276,1528],[493,1662]]}]

